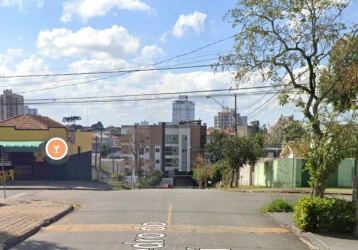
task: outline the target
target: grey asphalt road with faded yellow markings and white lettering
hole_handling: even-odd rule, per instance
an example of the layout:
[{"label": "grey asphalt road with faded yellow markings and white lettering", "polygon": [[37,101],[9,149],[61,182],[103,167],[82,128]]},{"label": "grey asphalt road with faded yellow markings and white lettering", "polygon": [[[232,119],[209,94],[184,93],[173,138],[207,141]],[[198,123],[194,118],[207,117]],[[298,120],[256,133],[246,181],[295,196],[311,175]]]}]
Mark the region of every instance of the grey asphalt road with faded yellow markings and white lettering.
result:
[{"label": "grey asphalt road with faded yellow markings and white lettering", "polygon": [[295,194],[173,189],[8,191],[8,197],[81,204],[12,249],[309,249],[259,208]]}]

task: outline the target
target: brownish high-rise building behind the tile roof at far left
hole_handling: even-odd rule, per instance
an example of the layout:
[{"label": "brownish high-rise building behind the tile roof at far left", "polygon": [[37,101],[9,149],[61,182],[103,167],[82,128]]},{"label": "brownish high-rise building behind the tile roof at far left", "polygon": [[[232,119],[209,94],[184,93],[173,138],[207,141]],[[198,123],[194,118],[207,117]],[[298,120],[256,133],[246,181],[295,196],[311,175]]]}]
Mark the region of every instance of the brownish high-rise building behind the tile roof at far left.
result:
[{"label": "brownish high-rise building behind the tile roof at far left", "polygon": [[7,89],[0,95],[0,121],[24,114],[24,97]]}]

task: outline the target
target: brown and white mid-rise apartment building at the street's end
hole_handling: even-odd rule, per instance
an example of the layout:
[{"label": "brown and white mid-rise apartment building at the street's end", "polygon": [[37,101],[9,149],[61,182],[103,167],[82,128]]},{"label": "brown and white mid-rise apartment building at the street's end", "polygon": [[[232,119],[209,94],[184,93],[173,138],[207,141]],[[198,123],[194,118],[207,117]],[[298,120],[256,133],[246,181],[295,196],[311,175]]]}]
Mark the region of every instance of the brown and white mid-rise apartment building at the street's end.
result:
[{"label": "brown and white mid-rise apartment building at the street's end", "polygon": [[[178,181],[181,179],[182,182],[184,179],[184,182],[190,182],[191,185],[189,172],[192,171],[193,162],[198,155],[196,150],[203,148],[206,143],[205,123],[202,125],[201,121],[186,121],[175,125],[164,122],[158,125],[123,125],[122,136],[127,132],[142,134],[138,143],[144,171],[150,168],[161,170],[165,177]],[[136,138],[138,140],[138,137]],[[133,164],[133,155],[123,152],[125,146],[121,145],[122,156]]]}]

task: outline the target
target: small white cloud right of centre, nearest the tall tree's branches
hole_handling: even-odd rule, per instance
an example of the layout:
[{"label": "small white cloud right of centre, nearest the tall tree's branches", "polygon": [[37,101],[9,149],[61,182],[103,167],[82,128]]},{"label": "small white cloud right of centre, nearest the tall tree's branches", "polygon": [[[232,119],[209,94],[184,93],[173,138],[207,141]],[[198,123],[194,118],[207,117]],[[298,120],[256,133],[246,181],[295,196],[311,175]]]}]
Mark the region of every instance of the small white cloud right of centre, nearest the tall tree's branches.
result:
[{"label": "small white cloud right of centre, nearest the tall tree's branches", "polygon": [[193,28],[197,33],[204,28],[206,14],[195,11],[192,14],[180,15],[173,27],[173,35],[182,37],[187,27]]}]

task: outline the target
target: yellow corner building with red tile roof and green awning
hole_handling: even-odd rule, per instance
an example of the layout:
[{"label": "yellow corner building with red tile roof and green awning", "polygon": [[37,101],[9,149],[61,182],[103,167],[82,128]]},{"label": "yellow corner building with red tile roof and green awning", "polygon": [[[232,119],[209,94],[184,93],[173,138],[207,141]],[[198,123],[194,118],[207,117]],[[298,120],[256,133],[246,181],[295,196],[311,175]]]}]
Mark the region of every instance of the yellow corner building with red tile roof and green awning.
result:
[{"label": "yellow corner building with red tile roof and green awning", "polygon": [[[41,115],[22,114],[1,121],[5,170],[15,170],[15,180],[91,180],[91,135]],[[46,153],[52,138],[67,143],[67,154],[60,160]]]}]

